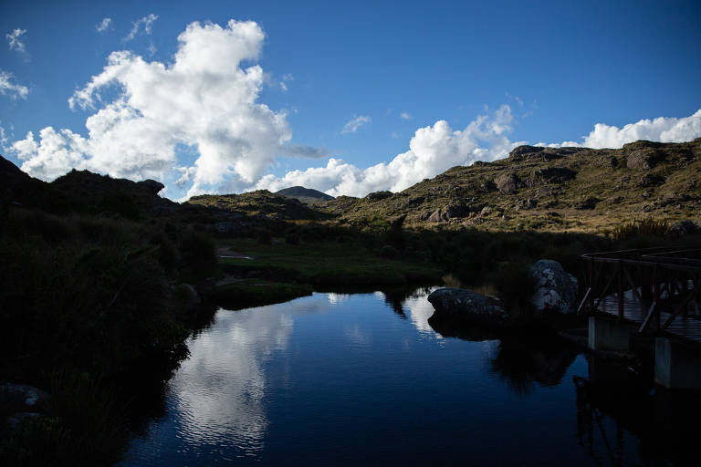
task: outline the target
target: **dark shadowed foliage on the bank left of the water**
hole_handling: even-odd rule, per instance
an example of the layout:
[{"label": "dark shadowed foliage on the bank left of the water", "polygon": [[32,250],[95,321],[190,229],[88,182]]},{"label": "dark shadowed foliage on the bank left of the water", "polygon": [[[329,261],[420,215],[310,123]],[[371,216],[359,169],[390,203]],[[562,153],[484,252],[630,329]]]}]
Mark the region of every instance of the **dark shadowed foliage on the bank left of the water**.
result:
[{"label": "dark shadowed foliage on the bank left of the water", "polygon": [[214,244],[187,229],[7,210],[0,222],[0,379],[51,391],[43,416],[3,433],[5,465],[96,465],[126,439],[124,381],[168,377],[188,322],[173,285],[216,274]]}]

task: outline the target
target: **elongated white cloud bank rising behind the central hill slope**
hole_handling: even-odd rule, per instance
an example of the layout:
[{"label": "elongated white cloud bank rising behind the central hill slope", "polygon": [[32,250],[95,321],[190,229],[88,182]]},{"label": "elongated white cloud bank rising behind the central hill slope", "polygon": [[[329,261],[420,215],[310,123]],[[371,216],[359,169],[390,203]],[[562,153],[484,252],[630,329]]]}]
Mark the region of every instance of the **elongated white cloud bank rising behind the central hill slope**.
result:
[{"label": "elongated white cloud bank rising behind the central hill slope", "polygon": [[364,196],[379,190],[400,192],[455,165],[494,161],[503,157],[523,143],[511,142],[507,138],[512,120],[511,109],[507,105],[489,115],[477,117],[463,130],[453,130],[447,121],[439,120],[433,126],[416,130],[409,142],[409,150],[389,163],[360,169],[331,158],[325,167],[289,171],[279,178],[266,175],[256,183],[256,188],[277,191],[302,185],[334,196]]}]

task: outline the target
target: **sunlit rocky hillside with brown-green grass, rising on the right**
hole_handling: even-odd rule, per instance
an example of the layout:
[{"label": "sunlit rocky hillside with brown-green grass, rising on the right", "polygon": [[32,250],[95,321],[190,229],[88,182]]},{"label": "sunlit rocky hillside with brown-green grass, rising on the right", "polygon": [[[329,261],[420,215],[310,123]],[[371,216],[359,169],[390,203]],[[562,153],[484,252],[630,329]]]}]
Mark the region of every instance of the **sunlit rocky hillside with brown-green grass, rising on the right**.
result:
[{"label": "sunlit rocky hillside with brown-green grass, rising on the right", "polygon": [[320,209],[348,222],[406,215],[415,226],[600,232],[633,219],[701,216],[701,138],[620,150],[519,146],[403,192],[340,196]]}]

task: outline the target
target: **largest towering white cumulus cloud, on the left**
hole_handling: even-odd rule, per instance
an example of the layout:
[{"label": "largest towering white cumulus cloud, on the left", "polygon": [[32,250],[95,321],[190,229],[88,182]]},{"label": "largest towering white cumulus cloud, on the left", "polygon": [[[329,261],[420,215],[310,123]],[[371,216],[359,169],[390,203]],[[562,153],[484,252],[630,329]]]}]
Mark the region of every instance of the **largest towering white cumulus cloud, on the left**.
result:
[{"label": "largest towering white cumulus cloud, on the left", "polygon": [[194,164],[180,170],[180,182],[192,183],[188,196],[250,187],[291,136],[286,114],[257,102],[263,69],[241,67],[258,57],[264,38],[250,21],[195,22],[178,36],[173,63],[113,52],[68,100],[71,109],[97,109],[86,120],[88,137],[51,127],[38,139],[29,133],[13,145],[22,169],[44,180],[74,167],[163,180],[184,145],[196,150]]}]

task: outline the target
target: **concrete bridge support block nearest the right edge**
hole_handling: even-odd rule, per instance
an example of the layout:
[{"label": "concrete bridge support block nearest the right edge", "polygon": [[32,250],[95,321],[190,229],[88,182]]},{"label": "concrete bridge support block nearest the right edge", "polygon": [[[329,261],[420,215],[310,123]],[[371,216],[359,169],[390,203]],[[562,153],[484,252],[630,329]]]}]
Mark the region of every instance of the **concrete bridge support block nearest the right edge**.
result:
[{"label": "concrete bridge support block nearest the right edge", "polygon": [[701,349],[654,339],[654,382],[667,389],[701,389]]}]

